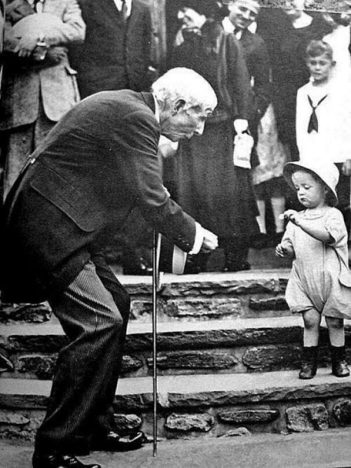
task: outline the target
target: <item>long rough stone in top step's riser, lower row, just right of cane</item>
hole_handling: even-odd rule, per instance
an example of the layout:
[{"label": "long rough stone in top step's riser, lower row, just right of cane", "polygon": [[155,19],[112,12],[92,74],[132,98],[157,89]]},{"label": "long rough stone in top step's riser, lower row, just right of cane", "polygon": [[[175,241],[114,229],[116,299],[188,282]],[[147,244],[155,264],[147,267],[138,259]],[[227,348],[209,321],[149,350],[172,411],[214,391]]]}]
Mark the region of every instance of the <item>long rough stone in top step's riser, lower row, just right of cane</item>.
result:
[{"label": "long rough stone in top step's riser, lower row, just right of cane", "polygon": [[165,313],[171,317],[238,317],[243,305],[240,299],[189,299],[188,301],[169,301]]}]

